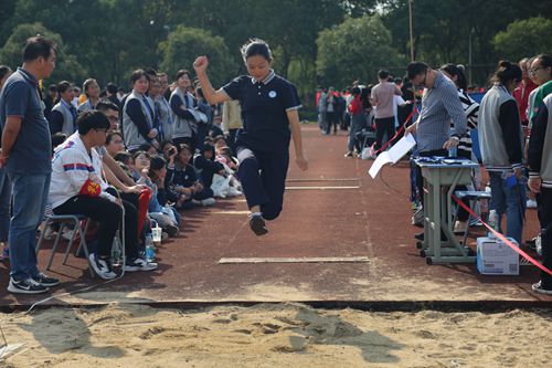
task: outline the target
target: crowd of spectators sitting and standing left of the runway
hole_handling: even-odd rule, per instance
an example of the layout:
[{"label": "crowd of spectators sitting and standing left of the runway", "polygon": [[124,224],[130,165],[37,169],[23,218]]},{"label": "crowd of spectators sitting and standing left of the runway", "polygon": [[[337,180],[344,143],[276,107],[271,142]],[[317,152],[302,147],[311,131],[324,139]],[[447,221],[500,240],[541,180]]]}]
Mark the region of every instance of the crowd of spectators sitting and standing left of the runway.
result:
[{"label": "crowd of spectators sitting and standing left of the runway", "polygon": [[[56,48],[39,36],[28,41],[25,50],[31,49],[35,51],[15,72],[0,66],[0,87],[6,84],[0,96],[2,127],[9,128],[10,118],[17,116],[26,128],[25,119],[33,113],[43,132],[50,132],[50,148],[44,155],[46,159],[52,157],[44,169],[50,172],[44,177],[45,207],[38,212],[45,212],[46,217],[81,214],[94,221],[92,228],[96,230],[94,241],[88,242],[88,261],[98,276],[116,277],[112,248],[117,233],[124,239],[125,272],[151,271],[158,265],[146,260],[145,245],[152,228],[162,229],[162,241],[178,236],[185,227],[182,211],[214,206],[216,197],[242,194],[235,177],[235,153],[226,144],[229,130],[232,135],[241,127],[240,106],[206,104],[201,86],[193,83],[185,70],[174,75],[174,83],[153,69],[137,70],[131,73],[128,93],[114,83],[102,87],[94,78],[84,81],[82,88],[71,81],[61,81],[43,91],[35,81],[49,75],[32,67],[40,69],[44,60],[54,61]],[[20,95],[14,94],[23,93],[19,91],[23,77],[23,83],[30,82],[25,88],[40,98],[36,112],[30,112],[29,105],[15,106]],[[23,128],[19,134],[22,133]],[[20,139],[14,141],[10,156],[6,148],[10,145],[4,145],[2,154],[7,157],[0,176],[0,242],[4,245],[3,259],[13,265],[19,261],[14,251],[18,246],[11,246],[10,202],[14,201],[17,210],[20,201],[11,191],[10,178],[14,176],[9,164],[18,159],[21,150],[30,149],[18,146]],[[25,161],[24,167],[32,165]],[[40,215],[39,223],[43,218]],[[41,231],[51,236],[56,229]],[[67,239],[72,235],[71,231],[63,234]],[[18,274],[17,267],[12,267],[10,292],[42,293],[57,284],[55,278],[35,270],[35,255],[30,262],[33,265],[28,273]]]}]

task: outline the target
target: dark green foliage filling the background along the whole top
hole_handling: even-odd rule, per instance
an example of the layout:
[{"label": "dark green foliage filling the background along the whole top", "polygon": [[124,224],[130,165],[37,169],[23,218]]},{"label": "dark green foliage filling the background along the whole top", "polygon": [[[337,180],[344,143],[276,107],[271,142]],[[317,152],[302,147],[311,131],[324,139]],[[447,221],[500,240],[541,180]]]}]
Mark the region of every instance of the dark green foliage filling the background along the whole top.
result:
[{"label": "dark green foliage filling the background along the whole top", "polygon": [[[374,81],[375,70],[380,66],[386,66],[400,75],[402,70],[399,70],[410,60],[408,0],[0,0],[0,45],[7,43],[20,24],[41,23],[63,40],[63,55],[60,57],[60,65],[53,78],[57,80],[63,75],[78,84],[85,76],[92,76],[97,78],[100,85],[113,81],[127,86],[127,77],[132,70],[151,66],[163,71],[168,55],[164,53],[166,46],[160,44],[167,44],[167,52],[173,52],[168,46],[170,43],[168,35],[177,32],[179,27],[201,29],[222,39],[223,49],[220,50],[227,53],[222,59],[229,63],[216,77],[223,82],[245,73],[240,46],[247,39],[266,40],[275,54],[276,72],[296,83],[304,96],[319,82],[342,86],[340,81],[346,80],[350,83],[355,77],[363,82]],[[346,15],[350,17],[347,22],[353,22],[358,19],[368,19],[363,17],[365,14],[381,17],[386,30],[382,30],[378,38],[389,42],[375,44],[374,36],[368,34],[362,38],[357,36],[351,43],[349,40],[332,39],[329,31],[322,32],[323,36],[319,39],[322,30],[341,24]],[[537,38],[528,32],[524,41],[518,42],[518,54],[503,49],[508,45],[503,46],[502,36],[497,35],[499,32],[508,33],[507,27],[512,22],[535,17],[541,17],[543,23],[552,19],[550,1],[415,0],[413,1],[415,57],[435,66],[445,62],[468,64],[471,44],[471,64],[477,67],[473,73],[474,82],[482,84],[495,69],[497,60],[503,55],[516,60],[518,54],[533,55],[546,50],[550,52],[550,48],[545,46],[550,31],[540,43],[534,43],[533,40]],[[538,24],[534,29],[538,30],[539,27],[543,25]],[[341,28],[346,25],[336,28],[332,32]],[[380,28],[375,29],[380,33]],[[352,27],[349,31],[354,33]],[[330,39],[337,44],[331,45]],[[202,36],[200,40],[203,40]],[[323,41],[320,45],[320,40],[328,42]],[[364,46],[364,43],[371,46]],[[19,46],[12,44],[14,49]],[[349,46],[352,50],[348,50]],[[209,49],[208,53],[212,53],[211,45],[205,48]],[[358,50],[362,48],[363,51]],[[190,53],[194,53],[198,45],[189,50]],[[321,50],[327,51],[319,57],[318,52]],[[3,51],[3,54],[17,55],[20,52],[20,50]],[[396,57],[397,53],[401,55],[400,59]],[[216,56],[212,56],[212,60],[219,57],[217,52],[214,55]],[[179,67],[191,69],[190,60],[197,55],[185,56],[189,59],[182,60]],[[349,60],[349,56],[352,59]],[[339,63],[332,60],[339,60]],[[12,63],[4,59],[0,62]],[[19,63],[17,59],[17,64]],[[17,64],[10,66],[14,67]],[[320,80],[317,80],[317,74]],[[348,76],[336,78],[336,75],[340,74]]]}]

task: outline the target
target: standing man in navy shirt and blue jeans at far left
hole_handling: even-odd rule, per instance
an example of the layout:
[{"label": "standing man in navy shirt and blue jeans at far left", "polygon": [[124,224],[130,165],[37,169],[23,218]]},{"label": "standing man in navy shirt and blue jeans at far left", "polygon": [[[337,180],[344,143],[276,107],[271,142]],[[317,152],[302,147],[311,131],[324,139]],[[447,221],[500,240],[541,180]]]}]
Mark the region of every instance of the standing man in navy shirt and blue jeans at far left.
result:
[{"label": "standing man in navy shirt and blue jeans at far left", "polygon": [[44,293],[60,283],[39,272],[34,252],[36,228],[44,217],[52,174],[52,144],[39,81],[52,74],[55,55],[52,41],[43,36],[26,40],[23,66],[8,78],[0,93],[0,166],[6,167],[13,185],[10,293]]}]

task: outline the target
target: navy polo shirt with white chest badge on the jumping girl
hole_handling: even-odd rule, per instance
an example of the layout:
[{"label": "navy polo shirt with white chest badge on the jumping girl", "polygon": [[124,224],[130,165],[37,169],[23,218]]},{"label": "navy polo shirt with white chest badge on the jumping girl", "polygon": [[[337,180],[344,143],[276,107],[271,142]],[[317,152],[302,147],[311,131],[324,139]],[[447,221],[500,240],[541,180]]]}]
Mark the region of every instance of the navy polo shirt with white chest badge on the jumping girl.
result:
[{"label": "navy polo shirt with white chest badge on the jumping girl", "polygon": [[295,85],[270,71],[261,82],[238,76],[223,91],[242,105],[243,129],[237,132],[236,146],[266,153],[288,150],[287,112],[301,107]]}]

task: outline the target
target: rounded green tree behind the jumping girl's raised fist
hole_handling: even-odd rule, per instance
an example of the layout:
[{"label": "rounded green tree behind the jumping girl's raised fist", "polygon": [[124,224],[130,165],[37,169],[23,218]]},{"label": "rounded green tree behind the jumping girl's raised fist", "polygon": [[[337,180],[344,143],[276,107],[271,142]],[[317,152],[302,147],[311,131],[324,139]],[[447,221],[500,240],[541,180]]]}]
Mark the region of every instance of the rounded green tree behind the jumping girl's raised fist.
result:
[{"label": "rounded green tree behind the jumping girl's raised fist", "polygon": [[192,71],[195,57],[206,55],[209,76],[214,86],[222,85],[235,76],[236,66],[224,40],[204,30],[178,27],[167,41],[160,43],[159,53],[162,55],[161,67],[170,73],[169,75],[174,75],[181,69]]}]

